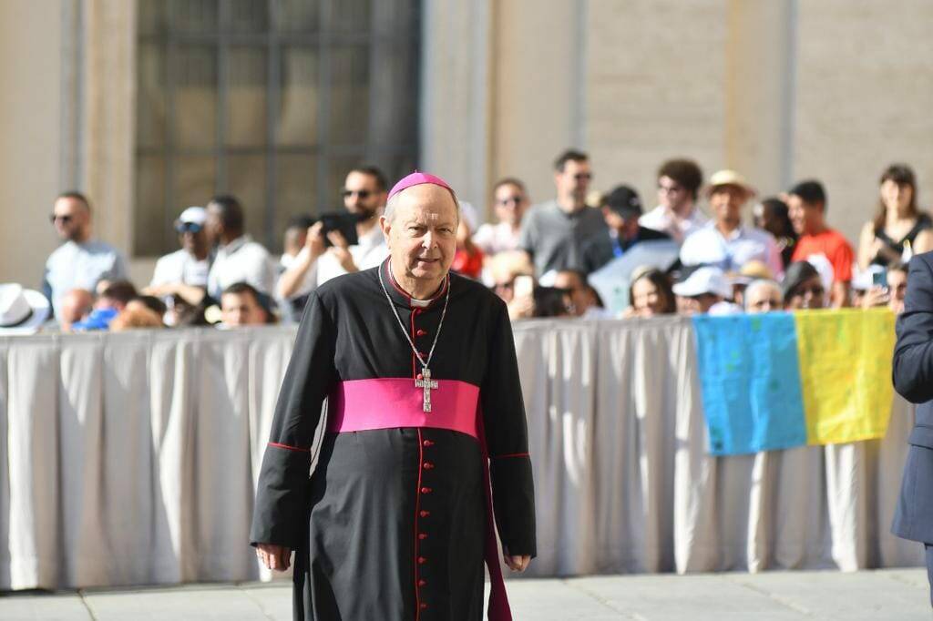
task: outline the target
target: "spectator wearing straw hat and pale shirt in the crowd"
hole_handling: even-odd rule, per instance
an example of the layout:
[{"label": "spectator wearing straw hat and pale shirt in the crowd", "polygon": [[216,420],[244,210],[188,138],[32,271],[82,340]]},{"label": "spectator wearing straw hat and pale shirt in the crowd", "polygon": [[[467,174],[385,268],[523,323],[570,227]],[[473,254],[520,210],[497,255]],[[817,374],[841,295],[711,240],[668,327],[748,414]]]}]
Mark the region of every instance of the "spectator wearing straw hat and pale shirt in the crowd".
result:
[{"label": "spectator wearing straw hat and pale shirt in the crowd", "polygon": [[739,173],[719,171],[710,177],[707,193],[716,220],[687,238],[680,248],[680,262],[730,272],[758,260],[779,279],[784,264],[777,242],[770,233],[742,225],[742,207],[755,196],[755,190]]}]

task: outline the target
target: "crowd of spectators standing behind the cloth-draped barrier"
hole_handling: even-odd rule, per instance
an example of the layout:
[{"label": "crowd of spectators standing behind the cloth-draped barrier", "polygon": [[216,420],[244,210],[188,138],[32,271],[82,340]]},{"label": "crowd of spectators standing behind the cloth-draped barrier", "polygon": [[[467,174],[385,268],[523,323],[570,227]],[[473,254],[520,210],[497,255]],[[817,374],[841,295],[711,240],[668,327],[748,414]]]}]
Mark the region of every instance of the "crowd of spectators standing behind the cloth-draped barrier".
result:
[{"label": "crowd of spectators standing behind the cloth-draped barrier", "polygon": [[[829,197],[817,180],[759,198],[741,173],[704,183],[689,159],[656,175],[648,211],[632,186],[592,191],[587,154],[553,165],[554,198],[532,205],[522,180],[494,184],[495,221],[479,225],[461,200],[453,270],[481,280],[530,317],[652,317],[825,308],[903,308],[907,261],[933,250],[933,219],[917,204],[909,166],[879,180],[877,212],[857,248],[827,224]],[[346,174],[344,212],[294,218],[276,258],[246,232],[233,196],[188,207],[174,220],[179,249],[160,257],[145,286],[126,260],[92,233],[91,202],[61,194],[51,224],[62,244],[46,262],[41,295],[0,285],[0,330],[78,332],[130,328],[294,323],[327,280],[388,256],[379,218],[388,180],[374,167]],[[701,205],[706,205],[706,210]]]}]

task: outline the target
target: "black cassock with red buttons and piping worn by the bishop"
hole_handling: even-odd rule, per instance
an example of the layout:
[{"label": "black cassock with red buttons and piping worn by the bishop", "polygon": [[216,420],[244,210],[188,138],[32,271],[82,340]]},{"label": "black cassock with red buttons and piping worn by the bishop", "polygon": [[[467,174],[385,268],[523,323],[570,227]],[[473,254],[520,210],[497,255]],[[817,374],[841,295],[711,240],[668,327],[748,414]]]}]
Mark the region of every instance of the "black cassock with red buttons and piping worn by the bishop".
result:
[{"label": "black cassock with red buttons and piping worn by the bishop", "polygon": [[[475,437],[430,427],[327,432],[309,478],[322,404],[341,382],[406,379],[421,398],[414,385],[420,364],[380,270],[425,359],[450,288],[431,379],[479,387],[499,537],[508,554],[536,555],[527,427],[505,304],[452,274],[418,308],[392,280],[388,261],[329,281],[308,300],[275,407],[250,540],[296,550],[296,619],[481,619],[487,515]],[[381,414],[381,403],[369,407]]]}]

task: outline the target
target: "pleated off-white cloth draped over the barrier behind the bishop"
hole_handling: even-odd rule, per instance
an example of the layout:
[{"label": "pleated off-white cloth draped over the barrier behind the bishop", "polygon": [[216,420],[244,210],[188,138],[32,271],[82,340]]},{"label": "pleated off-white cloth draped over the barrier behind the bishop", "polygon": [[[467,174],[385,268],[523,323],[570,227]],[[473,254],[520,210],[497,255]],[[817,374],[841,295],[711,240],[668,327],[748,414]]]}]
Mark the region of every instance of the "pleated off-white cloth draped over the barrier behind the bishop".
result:
[{"label": "pleated off-white cloth draped over the barrier behind the bishop", "polygon": [[[294,334],[0,338],[0,589],[268,578],[246,538]],[[688,322],[526,322],[515,340],[530,574],[923,563],[888,533],[899,397],[884,440],[710,458]]]}]

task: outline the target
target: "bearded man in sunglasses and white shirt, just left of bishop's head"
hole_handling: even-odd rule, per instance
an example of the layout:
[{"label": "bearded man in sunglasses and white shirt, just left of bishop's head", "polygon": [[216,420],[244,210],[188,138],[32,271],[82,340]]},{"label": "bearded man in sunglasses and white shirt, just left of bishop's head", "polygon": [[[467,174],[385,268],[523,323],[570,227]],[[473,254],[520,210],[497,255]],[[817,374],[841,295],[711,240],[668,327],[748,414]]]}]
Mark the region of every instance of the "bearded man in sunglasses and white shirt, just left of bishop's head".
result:
[{"label": "bearded man in sunglasses and white shirt, just left of bishop's head", "polygon": [[[347,173],[341,196],[346,210],[358,218],[357,242],[350,245],[340,231],[326,233],[323,222],[314,224],[308,229],[304,247],[279,277],[275,287],[278,299],[306,296],[332,278],[383,262],[389,250],[378,225],[386,186],[385,175],[378,168],[360,167]],[[331,243],[329,248],[325,238]]]}]

